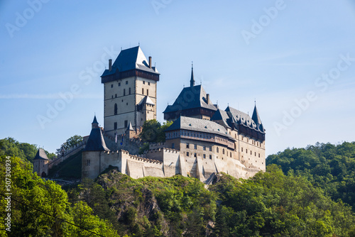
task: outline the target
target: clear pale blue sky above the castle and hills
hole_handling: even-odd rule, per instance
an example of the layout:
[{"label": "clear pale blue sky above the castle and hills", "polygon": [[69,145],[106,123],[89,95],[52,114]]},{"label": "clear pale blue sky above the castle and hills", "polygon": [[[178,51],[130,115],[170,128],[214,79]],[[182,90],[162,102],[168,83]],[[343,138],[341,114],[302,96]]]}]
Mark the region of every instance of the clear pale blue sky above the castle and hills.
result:
[{"label": "clear pale blue sky above the castle and hills", "polygon": [[193,60],[221,109],[251,114],[256,99],[268,155],[355,140],[354,1],[8,0],[0,38],[0,138],[55,152],[95,113],[103,125],[103,65],[139,42],[161,122]]}]

